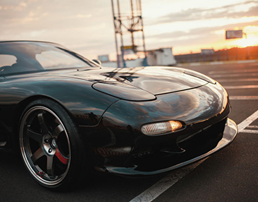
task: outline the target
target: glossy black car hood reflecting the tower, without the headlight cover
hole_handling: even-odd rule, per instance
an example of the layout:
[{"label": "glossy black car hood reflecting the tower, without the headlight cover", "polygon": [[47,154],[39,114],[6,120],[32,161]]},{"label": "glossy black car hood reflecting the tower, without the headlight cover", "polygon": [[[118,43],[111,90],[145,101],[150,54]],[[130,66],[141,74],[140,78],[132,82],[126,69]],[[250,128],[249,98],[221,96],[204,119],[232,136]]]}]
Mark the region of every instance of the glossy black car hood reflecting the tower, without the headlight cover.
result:
[{"label": "glossy black car hood reflecting the tower, without the headlight cover", "polygon": [[[123,84],[147,91],[153,95],[185,91],[208,83],[197,72],[172,67],[139,67],[139,68],[91,68],[66,73],[66,76],[91,80],[93,88],[102,91],[103,84]],[[198,77],[199,76],[199,77]],[[204,76],[205,77],[205,76]],[[105,92],[107,93],[107,92]]]}]

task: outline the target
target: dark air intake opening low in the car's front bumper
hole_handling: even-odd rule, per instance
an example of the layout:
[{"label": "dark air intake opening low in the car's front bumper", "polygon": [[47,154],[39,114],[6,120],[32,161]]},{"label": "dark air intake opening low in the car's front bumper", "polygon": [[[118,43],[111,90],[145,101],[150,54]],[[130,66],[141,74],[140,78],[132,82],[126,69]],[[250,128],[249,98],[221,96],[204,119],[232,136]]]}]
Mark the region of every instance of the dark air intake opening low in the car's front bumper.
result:
[{"label": "dark air intake opening low in the car's front bumper", "polygon": [[[205,130],[202,130],[191,136],[189,139],[185,139],[185,141],[178,143],[179,147],[185,150],[183,153],[164,153],[160,151],[162,146],[156,146],[153,147],[153,153],[151,154],[142,156],[135,155],[132,160],[132,163],[138,166],[135,170],[157,171],[207,153],[215,148],[218,145],[218,142],[222,139],[226,122],[227,118],[215,125],[206,127]],[[160,148],[160,150],[157,150],[157,148]]]}]

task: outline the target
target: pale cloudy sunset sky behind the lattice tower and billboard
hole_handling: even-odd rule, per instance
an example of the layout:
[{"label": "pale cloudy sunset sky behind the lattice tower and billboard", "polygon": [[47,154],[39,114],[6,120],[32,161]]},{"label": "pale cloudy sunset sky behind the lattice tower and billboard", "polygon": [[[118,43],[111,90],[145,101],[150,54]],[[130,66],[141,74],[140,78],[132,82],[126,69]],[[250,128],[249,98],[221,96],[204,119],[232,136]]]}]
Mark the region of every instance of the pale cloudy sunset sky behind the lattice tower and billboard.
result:
[{"label": "pale cloudy sunset sky behind the lattice tower and billboard", "polygon": [[[130,0],[119,3],[129,16]],[[176,55],[258,45],[258,0],[142,0],[142,18],[147,50],[172,47]],[[246,38],[225,40],[225,30],[234,29]],[[136,45],[141,39],[135,33]],[[0,40],[57,42],[89,59],[116,59],[111,0],[0,0]],[[131,45],[129,33],[124,45]]]}]

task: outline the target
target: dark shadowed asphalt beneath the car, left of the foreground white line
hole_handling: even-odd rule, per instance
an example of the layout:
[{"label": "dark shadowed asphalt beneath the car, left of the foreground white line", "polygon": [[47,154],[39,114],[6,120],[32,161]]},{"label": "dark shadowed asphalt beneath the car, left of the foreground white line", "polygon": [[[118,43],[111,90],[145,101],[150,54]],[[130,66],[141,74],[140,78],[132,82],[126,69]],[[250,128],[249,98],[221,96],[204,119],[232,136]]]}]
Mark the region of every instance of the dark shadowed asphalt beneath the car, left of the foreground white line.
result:
[{"label": "dark shadowed asphalt beneath the car, left of the foreground white line", "polygon": [[[92,173],[89,178],[68,190],[52,192],[31,178],[20,155],[0,153],[0,162],[0,195],[2,200],[7,201],[130,201],[165,176],[124,178]],[[17,196],[20,198],[17,199]]]}]

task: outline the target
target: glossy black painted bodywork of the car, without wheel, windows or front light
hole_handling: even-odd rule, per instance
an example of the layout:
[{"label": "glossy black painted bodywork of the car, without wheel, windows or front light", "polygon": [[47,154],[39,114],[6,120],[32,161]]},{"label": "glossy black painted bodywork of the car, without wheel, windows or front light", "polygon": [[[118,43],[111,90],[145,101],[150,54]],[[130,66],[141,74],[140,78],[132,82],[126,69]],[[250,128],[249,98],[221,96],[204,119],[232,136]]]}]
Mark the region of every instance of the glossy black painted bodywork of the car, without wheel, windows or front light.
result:
[{"label": "glossy black painted bodywork of the car, without wheel, windows or front light", "polygon": [[[142,175],[175,169],[227,146],[237,131],[231,121],[225,129],[231,108],[227,92],[205,75],[182,68],[96,64],[0,72],[0,142],[8,141],[0,149],[12,146],[24,107],[39,98],[68,111],[99,171]],[[146,123],[171,120],[182,121],[185,128],[158,137],[140,130]]]}]

